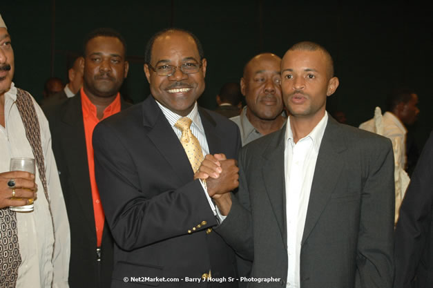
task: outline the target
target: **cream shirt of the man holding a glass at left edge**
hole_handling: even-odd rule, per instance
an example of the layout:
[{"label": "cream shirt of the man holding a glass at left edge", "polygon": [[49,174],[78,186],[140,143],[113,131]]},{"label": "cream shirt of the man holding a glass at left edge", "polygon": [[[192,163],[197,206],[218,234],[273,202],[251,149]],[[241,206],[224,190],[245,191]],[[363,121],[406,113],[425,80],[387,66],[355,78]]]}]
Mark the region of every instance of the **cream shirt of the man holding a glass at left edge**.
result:
[{"label": "cream shirt of the man holding a glass at left edge", "polygon": [[[0,125],[0,172],[9,171],[9,162],[12,157],[35,157],[15,103],[17,88],[13,83],[4,97],[6,127]],[[66,214],[63,193],[61,193],[56,162],[51,150],[48,121],[35,99],[33,99],[33,104],[41,128],[41,146],[44,151],[48,194],[52,217],[54,218],[55,243],[48,202],[39,178],[39,171],[36,169],[35,181],[38,191],[35,210],[28,213],[17,212],[19,253],[22,258],[18,269],[17,288],[51,287],[51,281],[52,287],[67,288],[69,287],[70,257],[68,215]],[[53,244],[54,258],[51,261]]]}]

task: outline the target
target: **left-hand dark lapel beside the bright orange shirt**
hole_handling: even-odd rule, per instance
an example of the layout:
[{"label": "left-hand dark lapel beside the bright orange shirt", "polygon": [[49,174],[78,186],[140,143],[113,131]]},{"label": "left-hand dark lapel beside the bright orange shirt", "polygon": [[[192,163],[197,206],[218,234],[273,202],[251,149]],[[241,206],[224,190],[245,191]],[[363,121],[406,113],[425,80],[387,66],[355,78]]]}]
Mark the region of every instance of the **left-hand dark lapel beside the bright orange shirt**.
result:
[{"label": "left-hand dark lapel beside the bright orange shirt", "polygon": [[68,100],[68,105],[66,106],[64,115],[61,117],[61,122],[63,122],[61,141],[64,142],[62,146],[69,149],[65,153],[65,157],[66,163],[69,165],[70,177],[74,179],[74,181],[69,182],[73,185],[71,191],[76,193],[84,215],[88,219],[88,224],[95,231],[95,216],[93,214],[93,200],[88,174],[86,137],[81,109],[81,95],[79,93]]}]

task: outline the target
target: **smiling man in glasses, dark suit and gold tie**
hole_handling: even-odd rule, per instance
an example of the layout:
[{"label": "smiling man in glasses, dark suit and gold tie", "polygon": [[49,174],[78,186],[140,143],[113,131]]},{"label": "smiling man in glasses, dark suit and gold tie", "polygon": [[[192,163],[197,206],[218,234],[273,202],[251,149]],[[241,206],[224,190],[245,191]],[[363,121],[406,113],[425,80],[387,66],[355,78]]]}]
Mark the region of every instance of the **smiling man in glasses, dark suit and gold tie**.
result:
[{"label": "smiling man in glasses, dark suit and gold tie", "polygon": [[[151,96],[98,124],[93,136],[97,184],[117,244],[112,287],[237,287],[235,253],[213,231],[210,197],[238,186],[238,128],[198,107],[206,59],[191,32],[158,32],[145,58]],[[194,180],[208,153],[232,159],[221,161],[219,179]]]}]

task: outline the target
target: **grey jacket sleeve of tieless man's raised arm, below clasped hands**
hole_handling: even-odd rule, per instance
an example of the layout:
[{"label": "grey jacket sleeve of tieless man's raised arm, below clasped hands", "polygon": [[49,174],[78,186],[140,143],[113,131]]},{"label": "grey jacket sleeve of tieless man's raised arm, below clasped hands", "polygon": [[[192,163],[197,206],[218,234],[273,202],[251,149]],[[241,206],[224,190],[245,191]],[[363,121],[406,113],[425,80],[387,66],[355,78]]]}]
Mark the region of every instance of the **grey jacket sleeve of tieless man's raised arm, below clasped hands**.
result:
[{"label": "grey jacket sleeve of tieless man's raised arm, below clasped hands", "polygon": [[235,195],[231,195],[232,204],[227,218],[215,228],[215,232],[235,250],[243,259],[253,261],[253,224],[251,217],[251,204],[247,179],[244,172],[244,150],[239,155],[239,189]]}]

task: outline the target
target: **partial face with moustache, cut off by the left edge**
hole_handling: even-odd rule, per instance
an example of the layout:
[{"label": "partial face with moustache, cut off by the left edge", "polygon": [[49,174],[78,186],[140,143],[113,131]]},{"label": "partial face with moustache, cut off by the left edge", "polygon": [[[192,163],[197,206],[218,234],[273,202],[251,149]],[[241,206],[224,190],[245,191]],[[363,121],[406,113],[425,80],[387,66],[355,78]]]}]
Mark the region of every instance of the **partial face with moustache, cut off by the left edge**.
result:
[{"label": "partial face with moustache, cut off by the left edge", "polygon": [[14,50],[6,28],[0,28],[0,96],[8,92],[14,76]]}]

